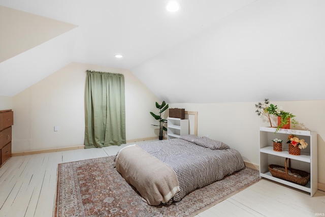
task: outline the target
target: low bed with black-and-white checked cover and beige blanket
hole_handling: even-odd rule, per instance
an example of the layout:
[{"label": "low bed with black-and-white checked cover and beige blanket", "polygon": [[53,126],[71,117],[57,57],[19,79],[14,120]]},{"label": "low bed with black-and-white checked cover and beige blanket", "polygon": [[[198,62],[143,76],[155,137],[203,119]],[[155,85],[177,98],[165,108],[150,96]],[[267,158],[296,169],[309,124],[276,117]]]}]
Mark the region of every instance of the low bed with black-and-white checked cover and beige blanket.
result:
[{"label": "low bed with black-and-white checked cover and beige blanket", "polygon": [[236,149],[195,135],[124,147],[115,165],[149,205],[179,202],[245,167]]}]

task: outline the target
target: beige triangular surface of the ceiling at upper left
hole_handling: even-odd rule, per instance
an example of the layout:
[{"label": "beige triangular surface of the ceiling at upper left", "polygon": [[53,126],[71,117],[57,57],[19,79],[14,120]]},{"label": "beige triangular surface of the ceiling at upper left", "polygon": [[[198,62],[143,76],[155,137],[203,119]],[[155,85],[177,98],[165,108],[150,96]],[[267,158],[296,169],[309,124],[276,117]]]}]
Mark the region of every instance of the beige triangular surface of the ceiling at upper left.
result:
[{"label": "beige triangular surface of the ceiling at upper left", "polygon": [[0,6],[0,63],[77,27]]}]

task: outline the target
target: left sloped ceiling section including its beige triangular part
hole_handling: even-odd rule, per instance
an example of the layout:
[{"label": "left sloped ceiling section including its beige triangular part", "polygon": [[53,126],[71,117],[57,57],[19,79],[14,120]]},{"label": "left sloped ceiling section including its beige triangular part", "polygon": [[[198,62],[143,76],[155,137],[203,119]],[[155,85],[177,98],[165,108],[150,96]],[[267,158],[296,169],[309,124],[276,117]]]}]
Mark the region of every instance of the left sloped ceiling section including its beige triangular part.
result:
[{"label": "left sloped ceiling section including its beige triangular part", "polygon": [[71,63],[76,27],[0,6],[0,96],[14,96]]}]

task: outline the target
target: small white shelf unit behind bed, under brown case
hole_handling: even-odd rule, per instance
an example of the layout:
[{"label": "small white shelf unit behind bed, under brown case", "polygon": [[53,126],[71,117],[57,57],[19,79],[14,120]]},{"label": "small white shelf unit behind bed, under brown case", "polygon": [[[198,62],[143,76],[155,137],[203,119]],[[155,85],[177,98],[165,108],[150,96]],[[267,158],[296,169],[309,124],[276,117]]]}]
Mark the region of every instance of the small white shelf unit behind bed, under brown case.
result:
[{"label": "small white shelf unit behind bed, under brown case", "polygon": [[175,117],[167,118],[167,138],[174,139],[188,135],[188,119]]}]

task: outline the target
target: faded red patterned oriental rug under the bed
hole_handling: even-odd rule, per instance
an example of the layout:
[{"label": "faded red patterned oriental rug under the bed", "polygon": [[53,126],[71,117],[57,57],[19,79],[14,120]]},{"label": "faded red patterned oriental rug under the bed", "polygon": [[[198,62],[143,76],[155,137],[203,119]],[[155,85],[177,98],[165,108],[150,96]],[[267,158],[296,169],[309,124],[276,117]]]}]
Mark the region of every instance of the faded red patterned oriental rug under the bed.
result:
[{"label": "faded red patterned oriental rug under the bed", "polygon": [[169,206],[150,206],[114,168],[114,157],[58,165],[54,216],[194,216],[259,180],[245,168]]}]

